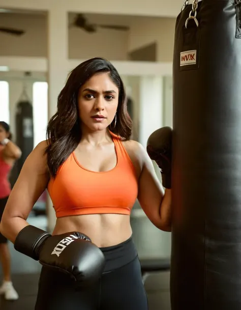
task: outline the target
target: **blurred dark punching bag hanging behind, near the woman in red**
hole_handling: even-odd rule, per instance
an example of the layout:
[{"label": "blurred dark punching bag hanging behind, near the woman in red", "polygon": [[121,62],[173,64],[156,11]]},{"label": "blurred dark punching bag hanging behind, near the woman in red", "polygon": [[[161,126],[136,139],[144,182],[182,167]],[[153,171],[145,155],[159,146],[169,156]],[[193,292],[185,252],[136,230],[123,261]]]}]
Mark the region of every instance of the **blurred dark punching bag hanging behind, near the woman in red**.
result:
[{"label": "blurred dark punching bag hanging behind, near the woman in red", "polygon": [[21,171],[24,161],[34,148],[33,107],[24,100],[17,104],[16,112],[16,144],[22,151],[17,161],[17,172]]}]

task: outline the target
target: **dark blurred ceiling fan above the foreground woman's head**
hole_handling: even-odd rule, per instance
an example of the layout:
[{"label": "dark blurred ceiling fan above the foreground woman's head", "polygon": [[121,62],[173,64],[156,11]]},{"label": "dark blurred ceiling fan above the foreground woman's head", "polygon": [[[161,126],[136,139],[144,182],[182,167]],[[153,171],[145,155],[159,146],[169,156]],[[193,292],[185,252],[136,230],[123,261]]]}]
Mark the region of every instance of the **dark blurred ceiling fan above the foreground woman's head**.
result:
[{"label": "dark blurred ceiling fan above the foreground woman's head", "polygon": [[83,29],[88,33],[93,33],[98,30],[98,28],[112,29],[112,30],[120,30],[120,31],[128,31],[130,28],[128,26],[121,25],[98,25],[92,24],[87,21],[83,14],[77,14],[74,19],[73,26]]}]

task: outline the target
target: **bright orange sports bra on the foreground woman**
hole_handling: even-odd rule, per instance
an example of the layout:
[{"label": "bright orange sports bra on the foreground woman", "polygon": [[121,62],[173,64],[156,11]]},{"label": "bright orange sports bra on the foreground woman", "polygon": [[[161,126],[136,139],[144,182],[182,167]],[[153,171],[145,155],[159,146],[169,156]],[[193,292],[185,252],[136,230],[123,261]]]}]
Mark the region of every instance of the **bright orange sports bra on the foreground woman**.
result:
[{"label": "bright orange sports bra on the foreground woman", "polygon": [[121,140],[111,133],[117,163],[112,170],[93,172],[77,161],[74,152],[51,178],[48,192],[56,217],[118,213],[130,214],[137,199],[138,179]]}]

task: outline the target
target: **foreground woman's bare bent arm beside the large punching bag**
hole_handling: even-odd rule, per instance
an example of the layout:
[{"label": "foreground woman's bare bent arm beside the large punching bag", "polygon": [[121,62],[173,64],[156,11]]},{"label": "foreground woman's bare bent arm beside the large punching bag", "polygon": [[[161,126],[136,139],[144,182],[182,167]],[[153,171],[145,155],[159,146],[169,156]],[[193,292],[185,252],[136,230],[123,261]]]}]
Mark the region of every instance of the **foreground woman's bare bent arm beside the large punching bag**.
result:
[{"label": "foreground woman's bare bent arm beside the large punching bag", "polygon": [[138,144],[142,158],[138,201],[150,221],[163,231],[171,231],[171,189],[164,189],[156,175],[152,160]]}]

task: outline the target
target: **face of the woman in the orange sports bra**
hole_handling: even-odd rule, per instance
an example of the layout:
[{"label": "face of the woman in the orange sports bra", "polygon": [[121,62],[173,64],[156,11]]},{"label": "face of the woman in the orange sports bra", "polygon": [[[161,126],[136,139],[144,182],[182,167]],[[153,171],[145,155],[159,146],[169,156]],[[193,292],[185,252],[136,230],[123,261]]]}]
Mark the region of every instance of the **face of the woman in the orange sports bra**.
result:
[{"label": "face of the woman in the orange sports bra", "polygon": [[115,117],[118,95],[118,88],[108,73],[97,73],[86,81],[78,95],[82,127],[91,131],[106,129]]}]

